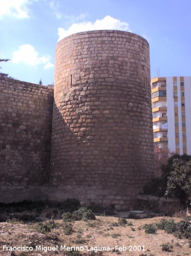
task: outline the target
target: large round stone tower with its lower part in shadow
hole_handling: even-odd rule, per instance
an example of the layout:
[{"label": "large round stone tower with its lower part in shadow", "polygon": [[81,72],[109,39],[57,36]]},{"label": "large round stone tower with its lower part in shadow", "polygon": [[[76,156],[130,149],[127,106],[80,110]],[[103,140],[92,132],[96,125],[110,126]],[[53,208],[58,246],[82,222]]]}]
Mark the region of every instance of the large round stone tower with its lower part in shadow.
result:
[{"label": "large round stone tower with its lower part in shadow", "polygon": [[64,38],[54,97],[54,199],[132,207],[154,163],[148,42],[116,30]]}]

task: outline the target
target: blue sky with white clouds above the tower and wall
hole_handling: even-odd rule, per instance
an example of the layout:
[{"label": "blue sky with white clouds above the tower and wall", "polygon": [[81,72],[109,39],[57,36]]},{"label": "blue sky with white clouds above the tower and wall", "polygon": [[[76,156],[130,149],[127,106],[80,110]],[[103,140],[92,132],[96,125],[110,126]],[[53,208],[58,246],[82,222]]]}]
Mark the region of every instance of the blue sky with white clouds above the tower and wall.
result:
[{"label": "blue sky with white clouds above the tower and wall", "polygon": [[191,76],[190,12],[191,0],[0,0],[0,72],[53,84],[59,40],[115,29],[149,42],[151,78]]}]

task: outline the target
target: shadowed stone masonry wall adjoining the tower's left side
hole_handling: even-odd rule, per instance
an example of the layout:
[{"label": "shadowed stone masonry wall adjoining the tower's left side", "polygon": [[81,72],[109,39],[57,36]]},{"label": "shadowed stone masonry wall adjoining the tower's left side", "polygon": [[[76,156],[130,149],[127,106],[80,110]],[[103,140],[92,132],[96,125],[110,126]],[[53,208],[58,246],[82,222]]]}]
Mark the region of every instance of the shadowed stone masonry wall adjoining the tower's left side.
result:
[{"label": "shadowed stone masonry wall adjoining the tower's left side", "polygon": [[0,201],[41,197],[49,182],[53,89],[0,77]]}]

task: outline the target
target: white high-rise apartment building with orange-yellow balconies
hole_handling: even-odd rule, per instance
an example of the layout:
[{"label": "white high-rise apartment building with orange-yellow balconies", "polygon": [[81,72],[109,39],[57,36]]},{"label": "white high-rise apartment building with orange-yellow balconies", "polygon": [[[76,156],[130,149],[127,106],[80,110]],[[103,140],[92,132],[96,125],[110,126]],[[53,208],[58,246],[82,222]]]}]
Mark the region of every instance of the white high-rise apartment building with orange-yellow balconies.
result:
[{"label": "white high-rise apartment building with orange-yellow balconies", "polygon": [[154,142],[191,155],[191,77],[151,79]]}]

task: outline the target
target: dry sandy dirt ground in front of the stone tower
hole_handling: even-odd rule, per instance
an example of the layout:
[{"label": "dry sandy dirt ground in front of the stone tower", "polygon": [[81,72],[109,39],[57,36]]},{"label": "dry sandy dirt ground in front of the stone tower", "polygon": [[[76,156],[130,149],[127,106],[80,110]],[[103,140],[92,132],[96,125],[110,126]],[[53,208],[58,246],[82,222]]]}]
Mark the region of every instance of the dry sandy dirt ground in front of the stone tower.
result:
[{"label": "dry sandy dirt ground in front of the stone tower", "polygon": [[[41,255],[76,255],[71,251],[65,251],[66,247],[81,246],[81,254],[89,250],[89,255],[133,255],[133,256],[161,256],[161,255],[191,255],[188,239],[178,239],[172,234],[165,233],[164,230],[157,230],[155,234],[146,234],[143,226],[145,224],[157,223],[163,218],[170,220],[170,217],[143,218],[139,220],[126,219],[127,224],[118,225],[118,217],[96,216],[95,220],[89,221],[71,221],[71,235],[64,234],[64,223],[61,218],[54,219],[55,227],[42,233],[39,229],[39,223],[10,220],[0,223],[0,256],[41,256]],[[183,218],[173,218],[175,222]],[[46,218],[44,218],[47,223]],[[70,225],[70,224],[69,224]],[[71,227],[70,226],[70,227]],[[162,251],[162,244],[169,243],[170,251]],[[3,251],[4,246],[4,251]],[[9,251],[10,247],[25,246],[32,251]],[[28,247],[27,247],[28,246]],[[37,250],[36,250],[37,246]],[[39,247],[41,246],[41,247]],[[44,249],[42,248],[44,246]],[[52,251],[46,252],[46,246]],[[63,246],[63,247],[61,247]],[[64,246],[66,246],[64,248]],[[105,248],[98,248],[98,247]],[[118,246],[118,247],[115,247]],[[121,248],[120,248],[121,246]],[[7,247],[7,248],[6,248]],[[69,249],[70,249],[69,248]],[[8,250],[6,250],[8,249]],[[23,249],[23,248],[22,248]],[[57,249],[57,251],[53,251]],[[98,251],[94,253],[91,250],[102,249],[102,254]],[[105,251],[108,249],[110,251]],[[92,254],[91,254],[92,253]],[[80,254],[80,255],[81,255]]]}]

